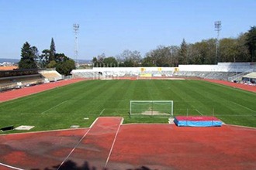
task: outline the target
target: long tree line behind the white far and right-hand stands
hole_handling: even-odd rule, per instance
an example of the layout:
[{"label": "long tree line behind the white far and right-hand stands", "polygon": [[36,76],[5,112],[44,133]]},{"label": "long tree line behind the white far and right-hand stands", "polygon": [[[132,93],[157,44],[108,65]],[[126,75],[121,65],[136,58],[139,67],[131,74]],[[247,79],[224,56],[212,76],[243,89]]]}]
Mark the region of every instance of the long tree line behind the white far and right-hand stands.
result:
[{"label": "long tree line behind the white far and right-hand stands", "polygon": [[[218,62],[256,62],[256,26],[236,38],[205,39],[180,46],[157,46],[144,57],[138,51],[124,50],[117,56],[102,53],[92,59],[95,67],[114,66],[178,66],[179,64],[216,64]],[[217,51],[217,53],[216,53]]]}]

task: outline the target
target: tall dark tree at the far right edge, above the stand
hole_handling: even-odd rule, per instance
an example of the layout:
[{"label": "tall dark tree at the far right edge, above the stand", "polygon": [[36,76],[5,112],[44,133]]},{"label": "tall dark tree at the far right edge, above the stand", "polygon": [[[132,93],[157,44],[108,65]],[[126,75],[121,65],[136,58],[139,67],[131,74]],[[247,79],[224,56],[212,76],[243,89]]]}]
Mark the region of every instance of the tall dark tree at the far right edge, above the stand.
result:
[{"label": "tall dark tree at the far right edge, above the stand", "polygon": [[252,26],[247,32],[247,48],[251,54],[251,62],[256,61],[256,26]]}]

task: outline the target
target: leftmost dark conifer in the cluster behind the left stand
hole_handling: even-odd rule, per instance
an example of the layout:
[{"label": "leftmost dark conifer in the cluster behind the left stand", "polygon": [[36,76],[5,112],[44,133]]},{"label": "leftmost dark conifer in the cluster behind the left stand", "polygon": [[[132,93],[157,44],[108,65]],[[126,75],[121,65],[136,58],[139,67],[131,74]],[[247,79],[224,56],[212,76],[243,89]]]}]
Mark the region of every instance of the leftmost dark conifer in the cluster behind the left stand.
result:
[{"label": "leftmost dark conifer in the cluster behind the left stand", "polygon": [[21,50],[19,69],[36,69],[36,59],[38,56],[38,49],[36,46],[31,47],[29,42],[25,42]]}]

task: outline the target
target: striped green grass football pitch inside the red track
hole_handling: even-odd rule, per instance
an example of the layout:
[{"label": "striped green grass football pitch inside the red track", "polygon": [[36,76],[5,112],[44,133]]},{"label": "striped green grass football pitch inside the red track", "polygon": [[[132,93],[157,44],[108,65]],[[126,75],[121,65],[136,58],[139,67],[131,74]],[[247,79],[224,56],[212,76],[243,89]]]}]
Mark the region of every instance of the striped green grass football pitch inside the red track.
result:
[{"label": "striped green grass football pitch inside the red track", "polygon": [[168,123],[167,117],[130,117],[130,100],[174,100],[174,115],[210,116],[214,110],[226,124],[256,127],[256,93],[201,80],[82,81],[1,103],[0,127],[89,127],[100,116],[124,117],[124,123]]}]

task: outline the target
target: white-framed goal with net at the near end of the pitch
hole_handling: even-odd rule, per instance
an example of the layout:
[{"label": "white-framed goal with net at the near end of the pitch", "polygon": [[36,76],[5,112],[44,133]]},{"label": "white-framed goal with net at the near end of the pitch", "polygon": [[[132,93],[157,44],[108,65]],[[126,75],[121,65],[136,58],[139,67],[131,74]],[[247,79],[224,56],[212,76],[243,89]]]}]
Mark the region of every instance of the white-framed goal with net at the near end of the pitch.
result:
[{"label": "white-framed goal with net at the near end of the pitch", "polygon": [[173,116],[173,100],[130,100],[130,117]]}]

